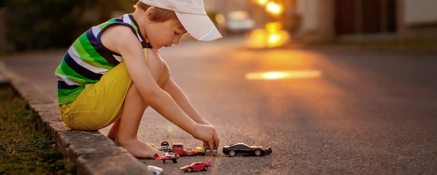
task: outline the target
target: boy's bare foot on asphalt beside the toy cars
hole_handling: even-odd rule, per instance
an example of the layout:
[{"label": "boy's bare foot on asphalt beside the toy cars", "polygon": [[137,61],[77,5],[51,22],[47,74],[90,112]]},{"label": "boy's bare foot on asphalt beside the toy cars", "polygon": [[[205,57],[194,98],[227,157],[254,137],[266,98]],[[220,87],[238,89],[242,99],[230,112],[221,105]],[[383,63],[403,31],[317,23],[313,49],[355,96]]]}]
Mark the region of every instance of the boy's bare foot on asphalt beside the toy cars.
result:
[{"label": "boy's bare foot on asphalt beside the toy cars", "polygon": [[153,147],[150,144],[138,139],[127,140],[127,141],[115,140],[114,143],[117,146],[126,149],[129,153],[131,153],[136,158],[153,159],[155,154],[158,154],[158,156],[165,155],[164,152],[159,151],[156,147]]}]

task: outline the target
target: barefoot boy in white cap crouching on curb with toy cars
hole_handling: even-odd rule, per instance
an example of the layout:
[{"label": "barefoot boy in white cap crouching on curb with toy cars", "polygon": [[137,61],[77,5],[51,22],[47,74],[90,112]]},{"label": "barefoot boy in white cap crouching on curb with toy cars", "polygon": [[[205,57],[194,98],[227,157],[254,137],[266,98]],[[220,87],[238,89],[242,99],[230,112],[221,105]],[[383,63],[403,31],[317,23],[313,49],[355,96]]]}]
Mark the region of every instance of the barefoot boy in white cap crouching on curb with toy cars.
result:
[{"label": "barefoot boy in white cap crouching on curb with toy cars", "polygon": [[221,37],[202,0],[139,0],[133,14],[92,27],[69,48],[56,69],[57,103],[73,130],[98,130],[114,123],[108,137],[137,158],[164,152],[137,138],[150,105],[195,139],[219,145],[215,128],[193,108],[171,80],[158,49]]}]

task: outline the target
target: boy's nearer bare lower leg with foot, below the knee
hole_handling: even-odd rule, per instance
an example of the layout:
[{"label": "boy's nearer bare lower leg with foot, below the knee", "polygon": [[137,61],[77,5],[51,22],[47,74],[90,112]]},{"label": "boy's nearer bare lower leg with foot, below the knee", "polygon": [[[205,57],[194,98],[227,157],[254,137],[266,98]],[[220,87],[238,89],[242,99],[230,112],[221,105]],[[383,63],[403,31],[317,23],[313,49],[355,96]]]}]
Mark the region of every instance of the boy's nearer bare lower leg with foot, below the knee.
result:
[{"label": "boy's nearer bare lower leg with foot, below the knee", "polygon": [[137,158],[153,158],[155,153],[159,156],[165,155],[164,152],[159,151],[156,147],[137,138],[138,127],[147,106],[135,84],[132,84],[126,94],[118,124],[117,137],[114,142],[117,146],[125,148]]}]

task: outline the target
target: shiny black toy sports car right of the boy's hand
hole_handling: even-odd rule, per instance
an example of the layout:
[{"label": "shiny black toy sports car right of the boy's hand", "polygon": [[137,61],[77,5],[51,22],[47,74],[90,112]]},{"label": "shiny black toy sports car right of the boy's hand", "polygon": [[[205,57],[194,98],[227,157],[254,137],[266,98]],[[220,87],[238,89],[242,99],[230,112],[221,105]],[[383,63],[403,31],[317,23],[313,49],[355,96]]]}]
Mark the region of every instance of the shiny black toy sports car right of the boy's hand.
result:
[{"label": "shiny black toy sports car right of the boy's hand", "polygon": [[223,154],[234,157],[237,154],[264,156],[271,153],[271,146],[264,148],[262,146],[249,146],[244,143],[235,143],[223,147]]}]

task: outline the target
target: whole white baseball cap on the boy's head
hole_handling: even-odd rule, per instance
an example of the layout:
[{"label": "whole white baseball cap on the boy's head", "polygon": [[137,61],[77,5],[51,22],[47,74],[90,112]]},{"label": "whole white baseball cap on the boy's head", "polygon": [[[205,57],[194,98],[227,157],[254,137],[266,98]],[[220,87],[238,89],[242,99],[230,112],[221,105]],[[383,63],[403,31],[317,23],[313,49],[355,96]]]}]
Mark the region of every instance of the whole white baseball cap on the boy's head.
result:
[{"label": "whole white baseball cap on the boy's head", "polygon": [[202,0],[139,0],[144,4],[174,11],[185,30],[195,39],[212,41],[222,36],[206,15]]}]

